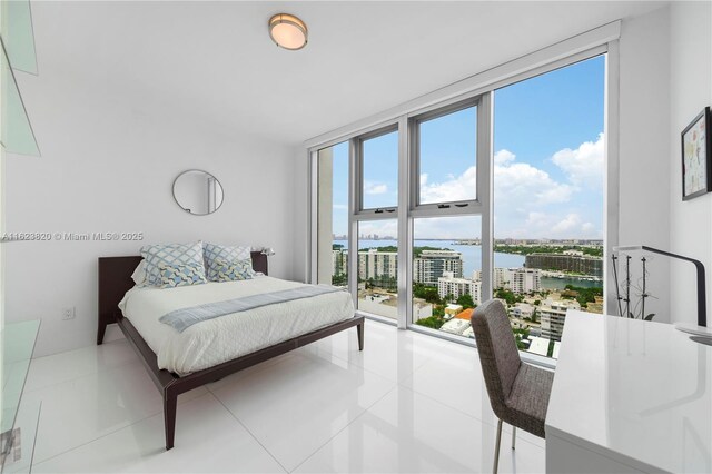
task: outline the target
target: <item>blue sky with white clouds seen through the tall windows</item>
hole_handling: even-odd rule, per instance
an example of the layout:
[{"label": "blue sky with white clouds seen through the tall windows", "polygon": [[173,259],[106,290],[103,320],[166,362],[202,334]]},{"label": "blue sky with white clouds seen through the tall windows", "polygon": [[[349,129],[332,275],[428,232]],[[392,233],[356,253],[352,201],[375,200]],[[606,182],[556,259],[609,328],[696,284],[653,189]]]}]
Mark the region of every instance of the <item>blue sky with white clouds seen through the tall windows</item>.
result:
[{"label": "blue sky with white clouds seen through the tall windows", "polygon": [[[604,57],[494,93],[495,238],[602,238]],[[423,201],[474,196],[476,111],[422,124]],[[348,146],[334,147],[334,233],[346,234]],[[397,204],[397,134],[364,144],[364,204]],[[428,219],[418,238],[472,238],[478,228]],[[395,236],[395,221],[362,233]]]}]

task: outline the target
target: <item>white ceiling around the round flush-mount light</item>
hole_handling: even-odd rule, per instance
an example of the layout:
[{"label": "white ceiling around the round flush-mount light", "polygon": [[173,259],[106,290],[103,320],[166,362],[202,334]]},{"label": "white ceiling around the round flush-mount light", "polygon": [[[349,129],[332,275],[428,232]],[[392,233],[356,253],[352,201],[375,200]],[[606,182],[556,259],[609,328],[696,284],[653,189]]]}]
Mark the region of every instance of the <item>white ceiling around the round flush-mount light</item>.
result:
[{"label": "white ceiling around the round flush-mount light", "polygon": [[[40,75],[300,142],[660,2],[36,2]],[[271,43],[300,17],[309,43]]]}]

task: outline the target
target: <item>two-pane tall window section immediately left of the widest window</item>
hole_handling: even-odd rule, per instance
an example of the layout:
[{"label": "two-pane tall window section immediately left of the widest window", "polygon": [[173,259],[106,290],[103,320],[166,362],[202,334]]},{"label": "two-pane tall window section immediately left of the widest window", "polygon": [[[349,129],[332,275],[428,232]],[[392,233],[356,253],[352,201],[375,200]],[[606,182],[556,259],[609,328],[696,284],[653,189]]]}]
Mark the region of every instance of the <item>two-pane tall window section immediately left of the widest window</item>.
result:
[{"label": "two-pane tall window section immediately left of the widest window", "polygon": [[477,112],[473,98],[411,119],[412,322],[463,337],[482,303]]}]

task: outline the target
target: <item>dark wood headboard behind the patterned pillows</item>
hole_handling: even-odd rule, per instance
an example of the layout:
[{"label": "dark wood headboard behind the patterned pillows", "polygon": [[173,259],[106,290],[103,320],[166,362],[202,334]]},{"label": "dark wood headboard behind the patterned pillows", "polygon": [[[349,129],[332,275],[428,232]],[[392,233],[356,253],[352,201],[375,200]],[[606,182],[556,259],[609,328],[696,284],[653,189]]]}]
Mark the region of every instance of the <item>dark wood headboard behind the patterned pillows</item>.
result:
[{"label": "dark wood headboard behind the patterned pillows", "polygon": [[[261,251],[253,251],[253,268],[267,275],[267,256]],[[126,292],[134,287],[131,275],[141,261],[139,256],[99,257],[99,329],[97,344],[103,342],[107,325],[122,317],[119,302]]]}]

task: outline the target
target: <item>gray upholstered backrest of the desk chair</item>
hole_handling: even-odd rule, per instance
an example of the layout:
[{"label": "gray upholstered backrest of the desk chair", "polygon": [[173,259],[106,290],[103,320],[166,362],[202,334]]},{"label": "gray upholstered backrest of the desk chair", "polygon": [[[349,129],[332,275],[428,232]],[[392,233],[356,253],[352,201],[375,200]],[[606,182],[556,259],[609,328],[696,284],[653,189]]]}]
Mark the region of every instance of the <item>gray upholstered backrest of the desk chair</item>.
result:
[{"label": "gray upholstered backrest of the desk chair", "polygon": [[522,365],[510,318],[502,302],[491,299],[477,306],[471,320],[490,403],[494,413],[502,418],[506,411],[505,402]]}]

